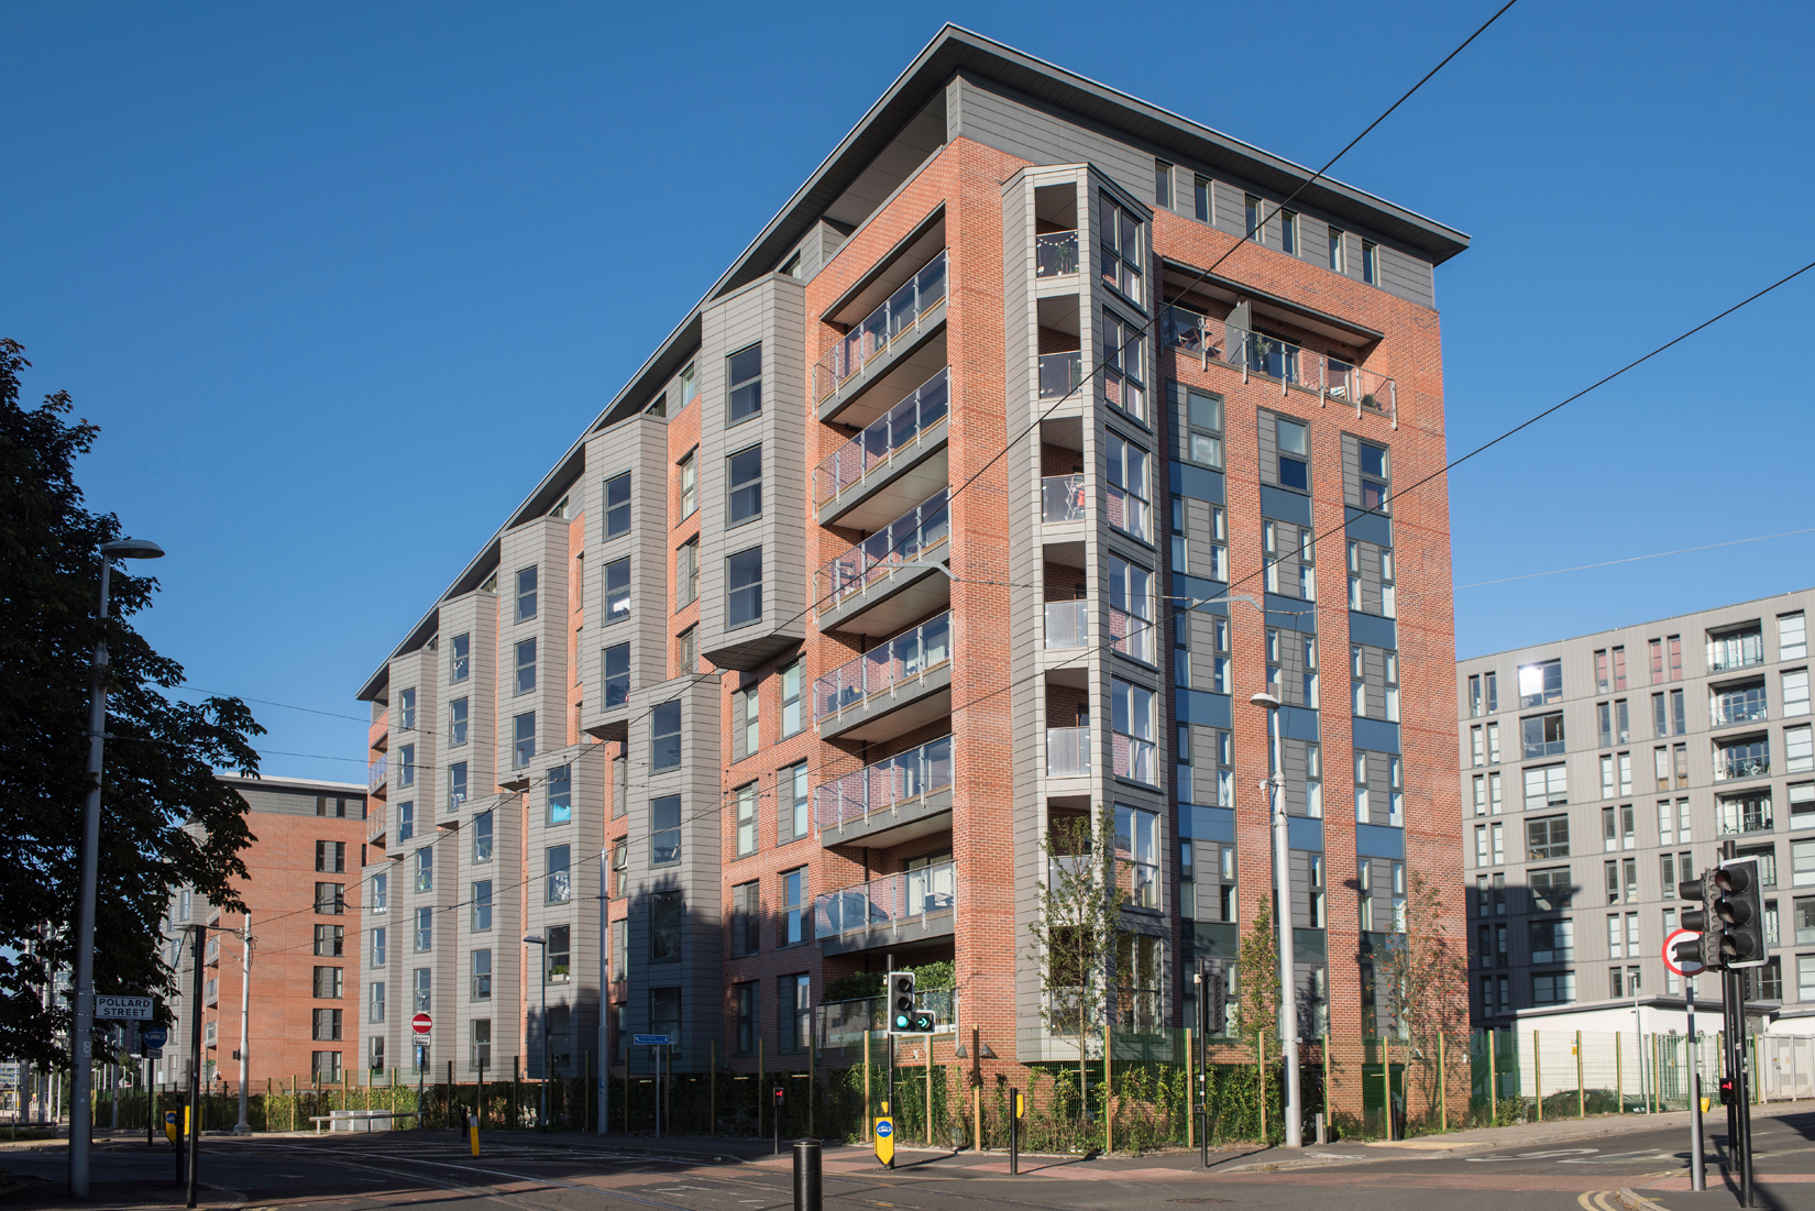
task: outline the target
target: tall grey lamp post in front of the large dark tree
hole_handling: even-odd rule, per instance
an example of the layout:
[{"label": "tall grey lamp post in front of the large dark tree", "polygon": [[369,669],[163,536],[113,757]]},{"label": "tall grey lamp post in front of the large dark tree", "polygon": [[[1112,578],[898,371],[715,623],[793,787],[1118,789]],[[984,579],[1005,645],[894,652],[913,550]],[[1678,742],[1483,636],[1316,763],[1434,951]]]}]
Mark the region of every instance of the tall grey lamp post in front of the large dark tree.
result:
[{"label": "tall grey lamp post in front of the large dark tree", "polygon": [[102,848],[102,743],[107,739],[107,574],[114,557],[158,559],[163,548],[142,537],[102,543],[100,635],[89,679],[89,801],[82,808],[82,886],[76,901],[76,1024],[71,1042],[69,1195],[89,1196],[91,1093],[94,1073],[94,881]]}]

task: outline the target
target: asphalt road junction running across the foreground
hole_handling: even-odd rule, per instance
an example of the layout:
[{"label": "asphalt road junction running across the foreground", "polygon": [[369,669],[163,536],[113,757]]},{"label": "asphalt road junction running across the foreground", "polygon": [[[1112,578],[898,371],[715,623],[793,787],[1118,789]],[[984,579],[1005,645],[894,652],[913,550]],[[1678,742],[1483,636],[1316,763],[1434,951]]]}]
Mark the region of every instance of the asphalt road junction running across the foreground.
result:
[{"label": "asphalt road junction running across the foreground", "polygon": [[[1617,1137],[1468,1151],[1307,1147],[1223,1155],[1209,1173],[1194,1155],[1140,1160],[1025,1158],[1020,1177],[996,1157],[904,1153],[893,1171],[857,1149],[828,1153],[826,1207],[871,1211],[1174,1211],[1187,1206],[1454,1207],[1485,1200],[1496,1211],[1686,1211],[1735,1207],[1724,1171],[1724,1120],[1708,1117],[1708,1186],[1688,1191],[1686,1133],[1644,1129]],[[1755,1120],[1759,1207],[1815,1211],[1815,1113]],[[4,1211],[69,1207],[64,1149],[0,1149],[0,1167],[27,1189]],[[203,1142],[201,1206],[285,1211],[770,1211],[793,1206],[786,1158],[719,1160],[633,1153],[563,1137],[492,1137],[474,1158],[452,1133],[370,1137],[261,1137]],[[94,1153],[94,1207],[171,1207],[167,1147],[109,1144]]]}]

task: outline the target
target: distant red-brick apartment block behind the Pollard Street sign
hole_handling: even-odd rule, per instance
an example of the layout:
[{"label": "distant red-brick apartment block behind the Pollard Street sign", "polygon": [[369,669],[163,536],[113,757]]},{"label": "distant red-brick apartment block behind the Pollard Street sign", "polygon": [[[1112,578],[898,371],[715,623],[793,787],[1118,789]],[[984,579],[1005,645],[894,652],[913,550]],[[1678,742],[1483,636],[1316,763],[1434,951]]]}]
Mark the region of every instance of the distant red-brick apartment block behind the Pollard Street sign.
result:
[{"label": "distant red-brick apartment block behind the Pollard Street sign", "polygon": [[[247,997],[247,1078],[339,1080],[359,1046],[359,871],[365,788],[310,779],[221,777],[247,801],[256,841],[240,853],[249,877],[252,979]],[[196,826],[191,826],[196,828]],[[171,1039],[152,1080],[185,1086],[191,1068],[196,962],[191,926],[201,924],[201,1080],[240,1082],[240,1000],[245,984],[241,913],[221,911],[183,888],[163,922],[163,959],[176,977]]]}]

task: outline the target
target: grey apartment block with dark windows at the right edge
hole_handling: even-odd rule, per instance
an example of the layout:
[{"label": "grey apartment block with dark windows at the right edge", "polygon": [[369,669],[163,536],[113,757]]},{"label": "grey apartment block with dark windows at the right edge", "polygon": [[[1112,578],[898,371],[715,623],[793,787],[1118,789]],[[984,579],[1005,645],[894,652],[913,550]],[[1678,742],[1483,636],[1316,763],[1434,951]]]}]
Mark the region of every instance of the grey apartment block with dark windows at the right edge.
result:
[{"label": "grey apartment block with dark windows at the right edge", "polygon": [[1750,997],[1815,1008],[1811,606],[1802,590],[1457,663],[1477,1024],[1683,997],[1663,962],[1677,884],[1724,842],[1759,857],[1777,951]]}]

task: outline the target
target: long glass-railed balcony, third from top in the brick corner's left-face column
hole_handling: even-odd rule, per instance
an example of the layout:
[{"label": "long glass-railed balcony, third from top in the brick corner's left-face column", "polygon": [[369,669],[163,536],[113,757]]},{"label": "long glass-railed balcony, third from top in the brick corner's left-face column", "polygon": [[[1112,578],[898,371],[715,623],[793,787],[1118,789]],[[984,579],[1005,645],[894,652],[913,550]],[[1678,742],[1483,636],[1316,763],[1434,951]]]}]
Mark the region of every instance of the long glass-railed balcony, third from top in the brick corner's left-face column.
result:
[{"label": "long glass-railed balcony, third from top in the brick corner's left-face column", "polygon": [[820,630],[888,634],[951,603],[940,566],[951,539],[947,496],[940,488],[819,570]]}]

